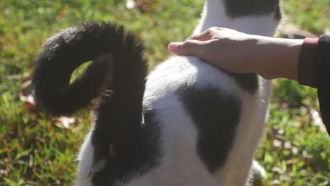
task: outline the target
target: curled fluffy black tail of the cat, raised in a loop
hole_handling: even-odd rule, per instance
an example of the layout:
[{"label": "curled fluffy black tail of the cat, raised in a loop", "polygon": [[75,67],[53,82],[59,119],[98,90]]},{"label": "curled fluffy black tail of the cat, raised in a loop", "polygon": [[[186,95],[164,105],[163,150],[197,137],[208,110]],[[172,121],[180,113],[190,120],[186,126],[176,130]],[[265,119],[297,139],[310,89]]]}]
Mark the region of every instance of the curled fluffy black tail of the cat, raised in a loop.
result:
[{"label": "curled fluffy black tail of the cat, raised in a loop", "polygon": [[[92,60],[70,84],[73,70]],[[32,83],[37,104],[55,116],[74,113],[109,88],[121,110],[141,115],[146,73],[143,46],[134,35],[112,23],[84,23],[47,40]]]}]

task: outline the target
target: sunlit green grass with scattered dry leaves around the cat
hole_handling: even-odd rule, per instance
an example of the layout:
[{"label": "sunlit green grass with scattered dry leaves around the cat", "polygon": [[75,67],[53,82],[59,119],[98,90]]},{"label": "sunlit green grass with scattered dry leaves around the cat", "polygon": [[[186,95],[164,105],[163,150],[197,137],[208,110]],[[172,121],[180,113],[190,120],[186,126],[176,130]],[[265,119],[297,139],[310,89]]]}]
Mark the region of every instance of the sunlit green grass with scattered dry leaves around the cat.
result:
[{"label": "sunlit green grass with scattered dry leaves around the cat", "polygon": [[[143,2],[142,10],[127,10],[121,0],[0,1],[0,185],[70,185],[76,178],[75,156],[91,127],[89,110],[76,114],[71,128],[61,128],[20,101],[23,82],[30,79],[33,59],[47,37],[87,20],[116,21],[145,42],[152,67],[169,56],[169,42],[190,35],[204,1]],[[329,2],[290,0],[283,6],[288,22],[319,34],[330,25]],[[267,169],[264,185],[329,184],[329,137],[310,114],[318,109],[316,91],[278,80],[271,102],[256,155]]]}]

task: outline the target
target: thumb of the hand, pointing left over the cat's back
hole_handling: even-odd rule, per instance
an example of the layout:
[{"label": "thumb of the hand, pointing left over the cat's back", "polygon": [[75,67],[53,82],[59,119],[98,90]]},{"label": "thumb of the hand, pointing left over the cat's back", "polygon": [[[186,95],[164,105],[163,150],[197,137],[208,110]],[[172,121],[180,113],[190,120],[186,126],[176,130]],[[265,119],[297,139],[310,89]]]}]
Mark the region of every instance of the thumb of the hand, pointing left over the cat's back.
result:
[{"label": "thumb of the hand, pointing left over the cat's back", "polygon": [[169,51],[178,56],[201,57],[204,51],[204,42],[192,39],[188,39],[185,42],[171,42]]}]

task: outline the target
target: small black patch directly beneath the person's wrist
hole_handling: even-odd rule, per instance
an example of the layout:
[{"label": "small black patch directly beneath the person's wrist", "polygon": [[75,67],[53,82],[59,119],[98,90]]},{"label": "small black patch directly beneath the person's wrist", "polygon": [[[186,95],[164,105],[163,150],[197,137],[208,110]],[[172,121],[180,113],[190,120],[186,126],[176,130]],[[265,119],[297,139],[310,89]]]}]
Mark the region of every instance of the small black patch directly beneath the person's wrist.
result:
[{"label": "small black patch directly beneath the person's wrist", "polygon": [[259,88],[259,80],[257,74],[234,74],[228,73],[234,80],[238,86],[242,89],[250,92],[251,94],[255,93]]}]

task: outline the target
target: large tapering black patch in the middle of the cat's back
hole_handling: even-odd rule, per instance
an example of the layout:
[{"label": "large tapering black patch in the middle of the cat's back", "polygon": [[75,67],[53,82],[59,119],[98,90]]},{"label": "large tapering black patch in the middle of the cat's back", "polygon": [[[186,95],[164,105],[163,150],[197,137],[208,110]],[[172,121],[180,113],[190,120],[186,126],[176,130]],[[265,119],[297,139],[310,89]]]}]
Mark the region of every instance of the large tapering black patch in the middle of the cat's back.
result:
[{"label": "large tapering black patch in the middle of the cat's back", "polygon": [[240,101],[212,87],[185,87],[178,91],[185,109],[197,125],[197,153],[214,173],[224,165],[240,118]]}]

